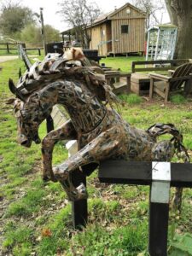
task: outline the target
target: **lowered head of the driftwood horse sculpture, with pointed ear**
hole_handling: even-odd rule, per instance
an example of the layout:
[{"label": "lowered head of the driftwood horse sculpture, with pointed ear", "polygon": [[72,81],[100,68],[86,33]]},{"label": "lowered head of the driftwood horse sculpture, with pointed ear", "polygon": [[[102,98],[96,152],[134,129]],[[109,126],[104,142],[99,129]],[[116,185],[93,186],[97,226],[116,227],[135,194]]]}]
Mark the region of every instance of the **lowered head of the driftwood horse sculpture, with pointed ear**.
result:
[{"label": "lowered head of the driftwood horse sculpture, with pointed ear", "polygon": [[15,87],[12,80],[9,80],[9,89],[15,94],[16,98],[9,103],[14,103],[14,113],[17,119],[18,143],[30,148],[32,141],[36,144],[41,143],[38,136],[38,127],[52,111],[52,107],[41,105],[38,93],[30,96],[22,96]]}]

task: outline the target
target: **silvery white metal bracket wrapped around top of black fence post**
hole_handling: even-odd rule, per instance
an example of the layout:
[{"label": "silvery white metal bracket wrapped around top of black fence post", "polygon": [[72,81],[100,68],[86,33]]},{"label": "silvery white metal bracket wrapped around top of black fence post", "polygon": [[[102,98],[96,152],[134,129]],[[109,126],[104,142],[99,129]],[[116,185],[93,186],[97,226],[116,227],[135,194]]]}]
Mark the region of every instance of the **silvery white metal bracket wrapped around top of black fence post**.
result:
[{"label": "silvery white metal bracket wrapped around top of black fence post", "polygon": [[169,203],[171,163],[152,163],[151,202]]}]

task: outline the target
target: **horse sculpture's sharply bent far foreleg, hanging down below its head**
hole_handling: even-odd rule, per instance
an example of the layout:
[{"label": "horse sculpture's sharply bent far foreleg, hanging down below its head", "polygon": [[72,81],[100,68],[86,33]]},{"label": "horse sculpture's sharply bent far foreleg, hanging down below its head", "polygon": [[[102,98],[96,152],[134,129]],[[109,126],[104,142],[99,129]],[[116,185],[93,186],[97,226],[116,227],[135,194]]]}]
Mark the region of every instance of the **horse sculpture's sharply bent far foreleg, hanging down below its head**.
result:
[{"label": "horse sculpture's sharply bent far foreleg, hanging down below its head", "polygon": [[77,139],[77,133],[74,130],[71,120],[68,120],[61,128],[50,131],[42,141],[42,160],[43,160],[43,178],[44,181],[56,181],[52,171],[52,154],[55,143],[61,140]]}]

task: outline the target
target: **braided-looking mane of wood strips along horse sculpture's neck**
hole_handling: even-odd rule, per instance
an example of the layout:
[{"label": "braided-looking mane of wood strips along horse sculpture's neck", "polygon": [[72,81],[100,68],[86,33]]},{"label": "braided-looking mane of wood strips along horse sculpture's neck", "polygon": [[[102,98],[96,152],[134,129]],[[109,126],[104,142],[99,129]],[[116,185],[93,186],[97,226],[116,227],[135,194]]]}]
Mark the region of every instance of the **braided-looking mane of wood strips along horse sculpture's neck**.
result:
[{"label": "braided-looking mane of wood strips along horse sculpture's neck", "polygon": [[68,60],[60,55],[46,56],[44,61],[35,62],[29,71],[20,77],[16,85],[17,91],[20,92],[20,95],[28,97],[56,80],[75,79],[86,84],[105,104],[109,103],[111,107],[113,103],[117,104],[119,100],[106,83],[102,68],[91,66],[90,61],[86,58],[80,62],[80,66],[79,62]]}]

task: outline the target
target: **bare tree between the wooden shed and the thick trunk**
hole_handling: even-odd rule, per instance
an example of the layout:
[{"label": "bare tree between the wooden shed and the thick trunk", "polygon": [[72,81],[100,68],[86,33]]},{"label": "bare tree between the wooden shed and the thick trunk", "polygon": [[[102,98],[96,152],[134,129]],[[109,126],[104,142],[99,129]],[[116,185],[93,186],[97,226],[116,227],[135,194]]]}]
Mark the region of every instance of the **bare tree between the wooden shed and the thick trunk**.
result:
[{"label": "bare tree between the wooden shed and the thick trunk", "polygon": [[146,29],[151,26],[151,23],[160,23],[160,17],[158,17],[157,13],[165,9],[165,3],[162,0],[133,0],[132,3],[146,13]]}]

